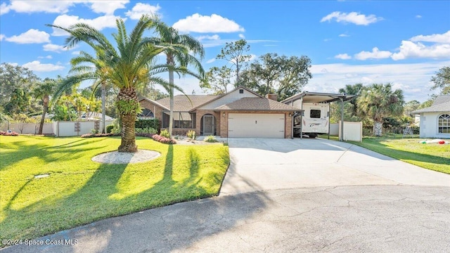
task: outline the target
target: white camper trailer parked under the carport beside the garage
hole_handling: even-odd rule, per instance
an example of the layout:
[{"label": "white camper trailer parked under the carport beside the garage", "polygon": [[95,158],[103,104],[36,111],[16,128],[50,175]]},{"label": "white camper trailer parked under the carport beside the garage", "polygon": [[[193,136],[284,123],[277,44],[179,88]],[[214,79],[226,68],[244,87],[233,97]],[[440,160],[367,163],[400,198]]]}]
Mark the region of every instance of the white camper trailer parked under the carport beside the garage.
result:
[{"label": "white camper trailer parked under the carport beside the garage", "polygon": [[294,135],[316,138],[318,134],[328,134],[330,117],[329,103],[303,103],[304,114],[294,117]]}]

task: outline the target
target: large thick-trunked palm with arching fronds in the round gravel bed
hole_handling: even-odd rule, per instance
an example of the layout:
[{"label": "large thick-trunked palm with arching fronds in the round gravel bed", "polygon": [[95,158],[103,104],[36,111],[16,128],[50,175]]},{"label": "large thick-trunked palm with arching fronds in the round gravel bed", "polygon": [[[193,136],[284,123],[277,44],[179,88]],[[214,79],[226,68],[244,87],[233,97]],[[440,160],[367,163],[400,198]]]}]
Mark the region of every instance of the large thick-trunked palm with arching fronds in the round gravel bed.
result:
[{"label": "large thick-trunked palm with arching fronds in the round gravel bed", "polygon": [[[152,39],[143,37],[143,33],[154,25],[154,20],[148,15],[143,15],[139,19],[130,34],[127,34],[122,19],[117,19],[116,23],[117,33],[113,34],[113,38],[117,47],[113,46],[104,34],[84,23],[77,23],[68,28],[49,26],[58,27],[70,34],[65,41],[66,47],[72,48],[80,42],[84,42],[91,46],[98,56],[101,56],[99,59],[105,63],[105,70],[108,70],[104,72],[104,79],[119,89],[116,106],[122,122],[122,141],[118,151],[135,153],[137,146],[134,125],[136,115],[141,109],[136,89],[139,86],[148,85],[150,82],[156,82],[163,86],[169,85],[160,77],[155,77],[155,74],[167,71],[168,67],[153,65],[155,57],[165,50],[165,45],[155,46]],[[174,71],[177,70],[174,68]],[[80,81],[98,78],[99,72],[101,70],[70,75],[58,87],[56,97]]]}]

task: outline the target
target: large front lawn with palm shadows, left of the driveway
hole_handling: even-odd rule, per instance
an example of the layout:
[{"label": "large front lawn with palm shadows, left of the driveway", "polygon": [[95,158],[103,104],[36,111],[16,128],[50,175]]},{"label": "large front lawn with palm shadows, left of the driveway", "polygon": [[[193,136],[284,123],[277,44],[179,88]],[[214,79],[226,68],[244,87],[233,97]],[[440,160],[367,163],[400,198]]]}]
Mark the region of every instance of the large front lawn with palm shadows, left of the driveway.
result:
[{"label": "large front lawn with palm shadows, left of the driveway", "polygon": [[[117,150],[120,138],[1,136],[1,238],[37,238],[219,193],[229,165],[227,146],[136,139],[140,149],[161,156],[137,164],[100,164],[91,157]],[[34,177],[40,174],[50,176]]]}]

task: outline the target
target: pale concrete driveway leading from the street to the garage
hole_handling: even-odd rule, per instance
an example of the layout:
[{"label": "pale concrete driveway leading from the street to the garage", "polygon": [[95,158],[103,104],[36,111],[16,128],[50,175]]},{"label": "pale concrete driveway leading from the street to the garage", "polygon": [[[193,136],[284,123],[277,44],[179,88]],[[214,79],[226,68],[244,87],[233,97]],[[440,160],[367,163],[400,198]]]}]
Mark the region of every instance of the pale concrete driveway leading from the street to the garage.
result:
[{"label": "pale concrete driveway leading from the street to the garage", "polygon": [[221,194],[320,186],[450,186],[448,175],[321,138],[230,138]]}]

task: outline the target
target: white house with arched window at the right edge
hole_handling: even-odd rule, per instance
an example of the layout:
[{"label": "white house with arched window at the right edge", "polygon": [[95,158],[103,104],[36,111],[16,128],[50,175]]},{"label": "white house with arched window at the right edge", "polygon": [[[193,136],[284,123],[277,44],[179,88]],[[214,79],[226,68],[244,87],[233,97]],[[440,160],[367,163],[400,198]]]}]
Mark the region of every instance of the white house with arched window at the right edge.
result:
[{"label": "white house with arched window at the right edge", "polygon": [[420,138],[450,138],[450,95],[438,96],[429,108],[411,113],[420,115]]}]

